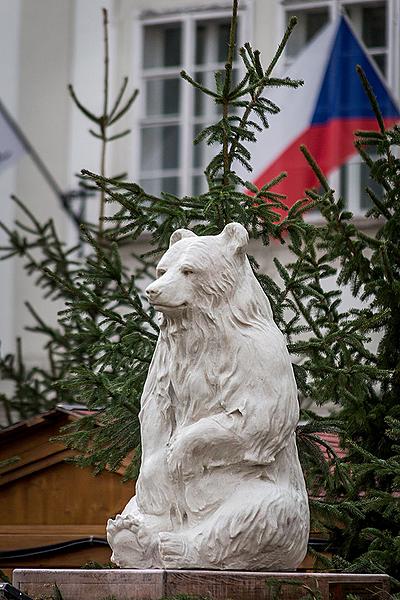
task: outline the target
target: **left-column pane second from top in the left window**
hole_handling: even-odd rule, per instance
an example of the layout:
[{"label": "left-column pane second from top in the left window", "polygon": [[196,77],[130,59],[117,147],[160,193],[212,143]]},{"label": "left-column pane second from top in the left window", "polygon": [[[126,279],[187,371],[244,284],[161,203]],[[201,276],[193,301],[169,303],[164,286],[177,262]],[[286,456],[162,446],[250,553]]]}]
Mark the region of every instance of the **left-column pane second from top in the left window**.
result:
[{"label": "left-column pane second from top in the left window", "polygon": [[180,79],[146,82],[146,115],[177,115],[180,111]]}]

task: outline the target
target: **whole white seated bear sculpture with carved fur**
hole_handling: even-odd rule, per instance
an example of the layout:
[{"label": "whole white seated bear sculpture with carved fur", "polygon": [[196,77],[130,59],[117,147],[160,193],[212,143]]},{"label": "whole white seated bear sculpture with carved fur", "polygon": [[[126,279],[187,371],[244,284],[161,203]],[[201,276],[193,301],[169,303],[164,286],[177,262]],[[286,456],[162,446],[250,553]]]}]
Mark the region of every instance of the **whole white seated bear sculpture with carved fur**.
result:
[{"label": "whole white seated bear sculpture with carved fur", "polygon": [[281,570],[306,554],[296,383],[247,243],[238,223],[179,229],[146,289],[161,324],[136,495],[107,524],[121,567]]}]

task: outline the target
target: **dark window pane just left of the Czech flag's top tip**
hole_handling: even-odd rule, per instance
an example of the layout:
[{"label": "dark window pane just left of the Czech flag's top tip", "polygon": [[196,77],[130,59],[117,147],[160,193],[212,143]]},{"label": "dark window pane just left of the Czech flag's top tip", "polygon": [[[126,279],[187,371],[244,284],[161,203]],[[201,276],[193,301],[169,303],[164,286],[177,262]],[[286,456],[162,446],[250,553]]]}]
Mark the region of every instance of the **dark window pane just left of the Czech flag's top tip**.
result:
[{"label": "dark window pane just left of the Czech flag's top tip", "polygon": [[329,21],[328,8],[315,8],[312,10],[290,11],[286,13],[287,21],[292,16],[298,17],[298,23],[289,38],[286,53],[295,57],[304,46],[326,25]]}]

